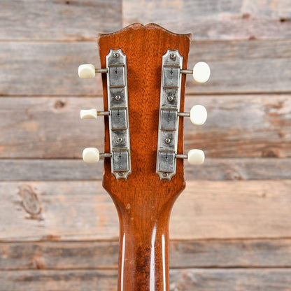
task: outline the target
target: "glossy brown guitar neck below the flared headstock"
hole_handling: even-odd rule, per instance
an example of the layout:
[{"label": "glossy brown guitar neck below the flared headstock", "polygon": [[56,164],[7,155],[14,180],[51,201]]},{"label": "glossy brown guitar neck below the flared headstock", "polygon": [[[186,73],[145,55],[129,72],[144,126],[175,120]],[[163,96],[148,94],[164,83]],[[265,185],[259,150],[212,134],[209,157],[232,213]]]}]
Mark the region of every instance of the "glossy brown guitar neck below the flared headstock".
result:
[{"label": "glossy brown guitar neck below the flared headstock", "polygon": [[[169,290],[169,216],[155,210],[119,208],[118,291]],[[159,214],[159,215],[158,215]]]}]

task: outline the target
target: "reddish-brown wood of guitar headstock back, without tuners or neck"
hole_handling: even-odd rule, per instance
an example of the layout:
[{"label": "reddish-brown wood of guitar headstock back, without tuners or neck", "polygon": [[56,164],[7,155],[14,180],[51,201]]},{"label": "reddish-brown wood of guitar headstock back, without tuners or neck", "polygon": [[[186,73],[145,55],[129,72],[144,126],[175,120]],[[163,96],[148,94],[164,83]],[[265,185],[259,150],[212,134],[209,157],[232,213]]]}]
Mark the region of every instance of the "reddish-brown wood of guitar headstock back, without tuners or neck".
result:
[{"label": "reddish-brown wood of guitar headstock back, without tuners or neck", "polygon": [[[166,31],[156,24],[132,24],[114,34],[99,36],[101,67],[106,67],[108,52],[121,49],[127,56],[127,87],[129,102],[129,132],[132,173],[127,180],[116,179],[111,173],[111,161],[104,161],[103,185],[114,196],[123,199],[138,193],[146,199],[169,199],[185,187],[183,159],[178,159],[176,175],[160,180],[156,173],[157,136],[159,127],[159,96],[162,77],[162,57],[167,50],[178,50],[187,66],[190,34]],[[104,111],[108,111],[107,78],[102,76]],[[184,109],[185,75],[182,76],[180,111]],[[105,152],[110,152],[108,118],[105,120]],[[178,128],[178,152],[183,152],[183,119]],[[136,193],[134,193],[136,192]]]}]

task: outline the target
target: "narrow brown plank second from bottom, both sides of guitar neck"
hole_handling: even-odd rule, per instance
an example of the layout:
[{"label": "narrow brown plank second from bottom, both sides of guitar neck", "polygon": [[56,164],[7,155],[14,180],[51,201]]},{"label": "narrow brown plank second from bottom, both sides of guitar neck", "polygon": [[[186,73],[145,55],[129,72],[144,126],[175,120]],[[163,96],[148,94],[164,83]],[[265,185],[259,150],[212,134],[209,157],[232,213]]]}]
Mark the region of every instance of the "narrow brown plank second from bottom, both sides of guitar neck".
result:
[{"label": "narrow brown plank second from bottom, both sides of guitar neck", "polygon": [[[118,269],[118,241],[0,243],[0,269]],[[291,267],[290,239],[171,241],[171,268]]]}]

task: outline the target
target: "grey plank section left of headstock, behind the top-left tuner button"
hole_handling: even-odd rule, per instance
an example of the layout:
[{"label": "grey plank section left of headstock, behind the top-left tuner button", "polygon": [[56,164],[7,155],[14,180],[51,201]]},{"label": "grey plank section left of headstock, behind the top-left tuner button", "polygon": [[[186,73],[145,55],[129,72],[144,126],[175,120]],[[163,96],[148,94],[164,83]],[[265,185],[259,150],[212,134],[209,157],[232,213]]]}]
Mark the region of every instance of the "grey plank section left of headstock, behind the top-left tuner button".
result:
[{"label": "grey plank section left of headstock, behind the top-left tuner button", "polygon": [[0,95],[96,95],[101,76],[80,79],[78,66],[99,67],[96,42],[4,42],[0,50]]}]

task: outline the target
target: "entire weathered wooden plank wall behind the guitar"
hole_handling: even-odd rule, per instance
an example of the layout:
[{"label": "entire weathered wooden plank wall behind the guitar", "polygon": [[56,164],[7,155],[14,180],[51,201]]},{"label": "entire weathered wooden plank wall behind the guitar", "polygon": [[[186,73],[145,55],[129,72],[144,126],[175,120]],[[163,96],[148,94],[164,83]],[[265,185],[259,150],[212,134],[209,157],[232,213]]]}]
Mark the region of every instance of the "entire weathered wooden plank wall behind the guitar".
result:
[{"label": "entire weathered wooden plank wall behind the guitar", "polygon": [[[0,3],[0,291],[116,290],[118,217],[100,165],[97,34],[156,22],[192,32],[187,187],[171,216],[171,291],[291,290],[291,0],[3,0]],[[92,126],[97,129],[92,136]]]}]

